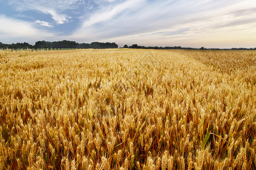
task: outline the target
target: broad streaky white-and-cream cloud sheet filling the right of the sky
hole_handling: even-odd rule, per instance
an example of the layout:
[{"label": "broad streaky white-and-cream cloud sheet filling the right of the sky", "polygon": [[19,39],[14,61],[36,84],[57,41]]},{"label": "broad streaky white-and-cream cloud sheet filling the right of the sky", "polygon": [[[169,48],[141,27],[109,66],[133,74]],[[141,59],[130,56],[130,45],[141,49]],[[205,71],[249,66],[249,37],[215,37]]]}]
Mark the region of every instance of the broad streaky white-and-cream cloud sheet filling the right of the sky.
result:
[{"label": "broad streaky white-and-cream cloud sheet filling the right of the sky", "polygon": [[187,46],[215,46],[220,39],[220,44],[232,45],[235,37],[244,42],[255,37],[255,7],[253,0],[117,1],[91,13],[71,37],[118,44]]}]

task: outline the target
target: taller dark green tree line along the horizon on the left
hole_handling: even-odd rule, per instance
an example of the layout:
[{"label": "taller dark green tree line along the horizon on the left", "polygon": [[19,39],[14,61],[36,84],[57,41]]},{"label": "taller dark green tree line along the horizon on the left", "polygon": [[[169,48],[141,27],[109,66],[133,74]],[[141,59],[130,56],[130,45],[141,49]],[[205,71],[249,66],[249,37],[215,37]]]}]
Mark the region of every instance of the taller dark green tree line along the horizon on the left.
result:
[{"label": "taller dark green tree line along the horizon on the left", "polygon": [[36,41],[35,45],[28,44],[28,42],[17,42],[16,44],[3,44],[0,42],[0,49],[56,49],[56,48],[78,48],[78,49],[106,49],[118,48],[115,42],[92,42],[79,43],[76,41],[62,40],[62,41]]}]

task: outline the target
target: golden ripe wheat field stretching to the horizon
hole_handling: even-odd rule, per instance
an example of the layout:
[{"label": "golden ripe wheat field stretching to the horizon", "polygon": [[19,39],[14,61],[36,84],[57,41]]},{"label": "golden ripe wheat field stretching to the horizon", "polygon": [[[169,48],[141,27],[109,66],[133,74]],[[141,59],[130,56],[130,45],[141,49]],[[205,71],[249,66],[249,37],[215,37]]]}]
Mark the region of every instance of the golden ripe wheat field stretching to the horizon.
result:
[{"label": "golden ripe wheat field stretching to the horizon", "polygon": [[256,169],[255,50],[0,50],[0,169]]}]

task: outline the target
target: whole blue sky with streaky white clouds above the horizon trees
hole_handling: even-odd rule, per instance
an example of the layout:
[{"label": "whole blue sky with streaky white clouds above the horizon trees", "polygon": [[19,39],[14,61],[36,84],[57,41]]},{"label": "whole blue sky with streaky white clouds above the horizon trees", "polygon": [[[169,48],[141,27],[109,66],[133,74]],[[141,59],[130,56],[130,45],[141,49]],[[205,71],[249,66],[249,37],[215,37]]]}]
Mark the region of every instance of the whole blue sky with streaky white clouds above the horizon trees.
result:
[{"label": "whole blue sky with streaky white clouds above the horizon trees", "polygon": [[256,47],[255,0],[0,0],[0,42]]}]

